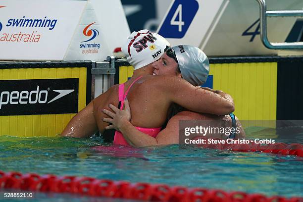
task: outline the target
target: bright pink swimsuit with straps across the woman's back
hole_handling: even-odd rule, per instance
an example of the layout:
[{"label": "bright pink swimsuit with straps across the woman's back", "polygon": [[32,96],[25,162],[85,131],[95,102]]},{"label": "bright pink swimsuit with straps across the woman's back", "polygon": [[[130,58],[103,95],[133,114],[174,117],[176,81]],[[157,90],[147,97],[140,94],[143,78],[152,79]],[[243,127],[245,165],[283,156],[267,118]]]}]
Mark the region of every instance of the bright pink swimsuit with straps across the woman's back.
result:
[{"label": "bright pink swimsuit with straps across the woman's back", "polygon": [[[123,105],[124,105],[124,100],[130,90],[130,88],[133,86],[133,84],[138,81],[142,76],[138,77],[137,79],[135,79],[135,81],[133,81],[133,83],[131,83],[131,85],[128,87],[127,91],[124,94],[124,83],[119,85],[119,101],[121,101],[121,105],[120,105],[120,110],[123,109]],[[159,128],[142,128],[142,127],[136,127],[137,130],[152,136],[153,138],[155,138],[158,133],[161,131],[161,127]],[[115,137],[114,137],[114,144],[119,144],[119,145],[129,145],[126,140],[124,139],[122,133],[116,131],[115,132]]]}]

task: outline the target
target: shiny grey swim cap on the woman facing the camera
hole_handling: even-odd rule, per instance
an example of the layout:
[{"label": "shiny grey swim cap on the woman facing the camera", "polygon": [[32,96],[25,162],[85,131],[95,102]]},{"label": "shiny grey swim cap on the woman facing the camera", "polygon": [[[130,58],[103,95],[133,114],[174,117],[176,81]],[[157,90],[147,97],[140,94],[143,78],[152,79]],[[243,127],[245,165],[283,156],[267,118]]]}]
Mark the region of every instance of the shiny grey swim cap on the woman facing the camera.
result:
[{"label": "shiny grey swim cap on the woman facing the camera", "polygon": [[209,73],[209,62],[205,53],[189,45],[175,46],[172,49],[175,51],[182,77],[194,86],[204,84]]}]

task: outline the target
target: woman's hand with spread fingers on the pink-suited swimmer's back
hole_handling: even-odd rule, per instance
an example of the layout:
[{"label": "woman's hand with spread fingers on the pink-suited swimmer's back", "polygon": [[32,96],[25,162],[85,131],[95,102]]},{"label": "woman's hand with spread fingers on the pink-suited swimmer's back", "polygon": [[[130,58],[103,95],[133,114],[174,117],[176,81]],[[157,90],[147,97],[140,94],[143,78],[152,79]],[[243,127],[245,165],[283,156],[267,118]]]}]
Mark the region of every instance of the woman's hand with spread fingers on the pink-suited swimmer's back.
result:
[{"label": "woman's hand with spread fingers on the pink-suited swimmer's back", "polygon": [[129,107],[129,103],[128,100],[126,99],[124,101],[124,109],[120,110],[117,107],[115,107],[112,104],[108,105],[109,108],[111,108],[113,112],[108,111],[106,109],[102,109],[102,112],[108,116],[110,116],[111,118],[103,118],[104,122],[107,123],[111,123],[112,125],[106,126],[105,129],[115,129],[117,131],[121,130],[121,127],[123,127],[124,125],[126,125],[127,123],[129,123],[130,119],[131,119],[131,110]]}]

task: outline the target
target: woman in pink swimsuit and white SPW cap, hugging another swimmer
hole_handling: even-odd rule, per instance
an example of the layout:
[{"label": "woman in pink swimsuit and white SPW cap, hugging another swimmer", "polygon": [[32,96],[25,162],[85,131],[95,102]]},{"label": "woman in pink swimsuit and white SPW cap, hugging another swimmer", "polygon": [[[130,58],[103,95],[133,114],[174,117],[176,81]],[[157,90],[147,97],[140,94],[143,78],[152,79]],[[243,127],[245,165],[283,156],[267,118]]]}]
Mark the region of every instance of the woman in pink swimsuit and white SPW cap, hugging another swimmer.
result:
[{"label": "woman in pink swimsuit and white SPW cap, hugging another swimmer", "polygon": [[[142,129],[145,135],[148,133],[151,138],[160,131],[173,103],[192,111],[218,115],[234,110],[232,100],[194,87],[184,79],[172,75],[152,76],[152,62],[163,55],[166,46],[169,43],[160,35],[148,30],[133,32],[122,47],[128,61],[135,67],[132,77],[124,84],[112,86],[91,101],[71,119],[61,136],[90,137],[98,130],[104,134],[110,116],[103,111],[109,111],[113,107],[122,108],[124,102],[128,103],[126,98],[132,107],[129,123],[136,126],[136,130]],[[114,143],[129,144],[124,138]]]}]

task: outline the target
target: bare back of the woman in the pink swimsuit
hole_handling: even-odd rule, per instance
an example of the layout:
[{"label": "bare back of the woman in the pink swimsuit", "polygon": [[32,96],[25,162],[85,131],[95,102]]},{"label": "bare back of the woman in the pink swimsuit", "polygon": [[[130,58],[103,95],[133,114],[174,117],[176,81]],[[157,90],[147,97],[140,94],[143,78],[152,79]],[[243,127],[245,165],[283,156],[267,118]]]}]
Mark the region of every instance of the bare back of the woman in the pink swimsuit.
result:
[{"label": "bare back of the woman in the pink swimsuit", "polygon": [[[156,128],[162,126],[165,121],[171,101],[167,101],[160,88],[154,85],[154,82],[159,80],[156,77],[152,75],[144,76],[135,82],[129,90],[127,99],[132,111],[131,123],[134,126]],[[132,81],[133,79],[125,83],[124,92]],[[103,108],[111,110],[108,107],[109,103],[118,107],[118,89],[119,85],[114,85],[93,100],[94,116],[101,132],[108,126],[108,123],[102,121],[103,117],[108,118],[108,116],[102,113],[101,110]]]}]

